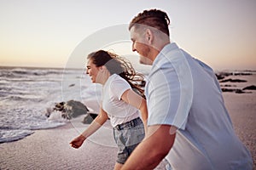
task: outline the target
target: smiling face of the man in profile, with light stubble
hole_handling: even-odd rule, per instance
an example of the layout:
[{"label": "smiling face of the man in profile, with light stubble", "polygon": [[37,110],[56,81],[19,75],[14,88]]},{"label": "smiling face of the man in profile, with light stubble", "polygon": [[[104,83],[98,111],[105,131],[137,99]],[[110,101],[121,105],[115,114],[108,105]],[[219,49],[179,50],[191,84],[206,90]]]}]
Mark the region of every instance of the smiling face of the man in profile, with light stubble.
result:
[{"label": "smiling face of the man in profile, with light stubble", "polygon": [[138,32],[135,27],[131,27],[131,41],[132,41],[132,51],[136,51],[140,55],[140,63],[143,65],[152,65],[152,60],[149,58],[150,48],[147,45],[147,38],[145,33]]}]

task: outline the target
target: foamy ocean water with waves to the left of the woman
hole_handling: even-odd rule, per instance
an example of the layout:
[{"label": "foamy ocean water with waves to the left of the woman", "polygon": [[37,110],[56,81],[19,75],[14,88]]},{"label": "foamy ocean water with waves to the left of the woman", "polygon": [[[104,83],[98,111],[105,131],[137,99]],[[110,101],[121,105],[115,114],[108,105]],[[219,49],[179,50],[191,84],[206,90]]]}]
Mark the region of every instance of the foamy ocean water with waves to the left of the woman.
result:
[{"label": "foamy ocean water with waves to the left of the woman", "polygon": [[97,112],[101,89],[83,70],[0,67],[0,143],[65,125],[61,116],[45,116],[62,101],[78,100]]}]

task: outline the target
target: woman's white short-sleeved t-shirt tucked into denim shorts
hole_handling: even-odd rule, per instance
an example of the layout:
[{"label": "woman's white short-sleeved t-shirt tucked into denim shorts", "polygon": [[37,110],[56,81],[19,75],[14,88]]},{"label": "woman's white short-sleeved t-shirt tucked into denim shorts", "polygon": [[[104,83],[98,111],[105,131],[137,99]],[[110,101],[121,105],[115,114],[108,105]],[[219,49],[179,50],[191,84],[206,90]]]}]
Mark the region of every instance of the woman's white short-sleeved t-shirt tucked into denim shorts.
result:
[{"label": "woman's white short-sleeved t-shirt tucked into denim shorts", "polygon": [[108,77],[102,91],[102,109],[108,113],[113,127],[129,122],[140,116],[137,108],[121,99],[126,90],[131,89],[128,82],[117,74]]}]

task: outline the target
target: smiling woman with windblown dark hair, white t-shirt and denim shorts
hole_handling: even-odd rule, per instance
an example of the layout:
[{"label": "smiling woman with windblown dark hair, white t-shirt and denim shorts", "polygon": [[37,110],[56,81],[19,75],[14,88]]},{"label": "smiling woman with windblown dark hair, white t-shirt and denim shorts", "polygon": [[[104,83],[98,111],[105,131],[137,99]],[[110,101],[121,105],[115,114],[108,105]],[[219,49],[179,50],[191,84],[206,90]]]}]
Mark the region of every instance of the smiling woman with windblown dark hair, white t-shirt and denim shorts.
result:
[{"label": "smiling woman with windblown dark hair, white t-shirt and denim shorts", "polygon": [[103,50],[88,55],[86,73],[93,83],[102,84],[102,105],[96,119],[70,144],[78,149],[109,118],[119,148],[114,169],[120,169],[145,136],[147,105],[143,89],[134,83],[143,82],[143,77],[125,59]]}]

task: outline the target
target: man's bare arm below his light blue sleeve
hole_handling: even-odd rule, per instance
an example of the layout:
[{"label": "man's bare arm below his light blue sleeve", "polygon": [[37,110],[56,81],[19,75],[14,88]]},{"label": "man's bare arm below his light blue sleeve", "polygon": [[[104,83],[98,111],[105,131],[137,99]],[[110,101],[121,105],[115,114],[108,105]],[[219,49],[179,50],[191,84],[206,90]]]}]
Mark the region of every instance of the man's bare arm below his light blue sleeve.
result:
[{"label": "man's bare arm below his light blue sleeve", "polygon": [[149,126],[146,138],[132,152],[121,169],[154,169],[157,167],[174,143],[176,128],[174,127],[173,130],[171,127],[170,125]]}]

